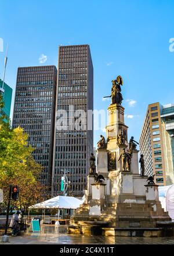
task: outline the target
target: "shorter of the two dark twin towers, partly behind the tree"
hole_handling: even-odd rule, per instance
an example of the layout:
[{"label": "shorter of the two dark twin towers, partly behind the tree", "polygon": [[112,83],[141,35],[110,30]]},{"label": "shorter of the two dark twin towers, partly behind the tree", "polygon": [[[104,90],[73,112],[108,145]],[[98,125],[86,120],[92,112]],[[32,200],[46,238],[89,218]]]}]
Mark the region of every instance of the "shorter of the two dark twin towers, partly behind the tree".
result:
[{"label": "shorter of the two dark twin towers, partly behind the tree", "polygon": [[51,191],[55,130],[57,68],[19,67],[13,110],[13,128],[24,128],[34,159],[44,167],[41,182]]}]

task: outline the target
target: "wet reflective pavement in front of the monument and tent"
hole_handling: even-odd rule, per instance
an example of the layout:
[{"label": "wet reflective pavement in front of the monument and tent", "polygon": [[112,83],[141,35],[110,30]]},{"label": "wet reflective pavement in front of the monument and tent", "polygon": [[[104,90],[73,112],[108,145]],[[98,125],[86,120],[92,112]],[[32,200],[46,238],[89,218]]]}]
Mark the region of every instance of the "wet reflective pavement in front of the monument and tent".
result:
[{"label": "wet reflective pavement in front of the monument and tent", "polygon": [[[0,237],[1,239],[1,237]],[[66,226],[41,226],[41,232],[27,230],[23,236],[9,236],[0,244],[174,244],[174,237],[114,237],[68,235]]]}]

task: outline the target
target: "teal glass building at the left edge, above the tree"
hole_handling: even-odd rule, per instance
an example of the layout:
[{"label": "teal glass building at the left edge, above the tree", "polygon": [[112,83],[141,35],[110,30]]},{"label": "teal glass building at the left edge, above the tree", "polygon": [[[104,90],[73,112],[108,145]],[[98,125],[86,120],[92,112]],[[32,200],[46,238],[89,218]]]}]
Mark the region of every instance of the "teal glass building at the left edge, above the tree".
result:
[{"label": "teal glass building at the left edge, above the tree", "polygon": [[[2,88],[3,87],[3,88]],[[10,88],[5,82],[0,79],[0,93],[3,96],[4,107],[1,109],[0,114],[5,114],[8,118],[10,118],[10,109],[12,103],[12,92],[13,89]]]}]

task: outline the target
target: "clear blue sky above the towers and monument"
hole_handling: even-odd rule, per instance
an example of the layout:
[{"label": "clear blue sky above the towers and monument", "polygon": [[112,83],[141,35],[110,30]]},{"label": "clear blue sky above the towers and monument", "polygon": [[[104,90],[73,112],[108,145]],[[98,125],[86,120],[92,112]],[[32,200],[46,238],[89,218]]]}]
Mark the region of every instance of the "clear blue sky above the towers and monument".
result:
[{"label": "clear blue sky above the towers and monument", "polygon": [[[17,67],[38,66],[42,54],[47,60],[41,65],[57,66],[58,45],[89,44],[94,109],[107,109],[110,102],[102,97],[121,75],[128,136],[138,140],[148,104],[174,102],[173,13],[170,0],[2,0],[0,38],[5,47],[9,43],[5,82],[15,89]],[[0,52],[1,78],[4,57]],[[101,133],[95,131],[95,145]]]}]

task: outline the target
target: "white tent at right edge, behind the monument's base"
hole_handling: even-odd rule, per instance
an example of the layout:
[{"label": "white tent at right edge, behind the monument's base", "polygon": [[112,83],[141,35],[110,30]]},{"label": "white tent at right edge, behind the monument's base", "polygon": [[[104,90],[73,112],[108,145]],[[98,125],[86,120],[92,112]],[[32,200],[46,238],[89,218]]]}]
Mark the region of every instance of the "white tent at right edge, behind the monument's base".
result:
[{"label": "white tent at right edge, behind the monument's base", "polygon": [[169,217],[174,221],[174,184],[170,186],[159,186],[158,192],[162,208],[168,211]]}]

